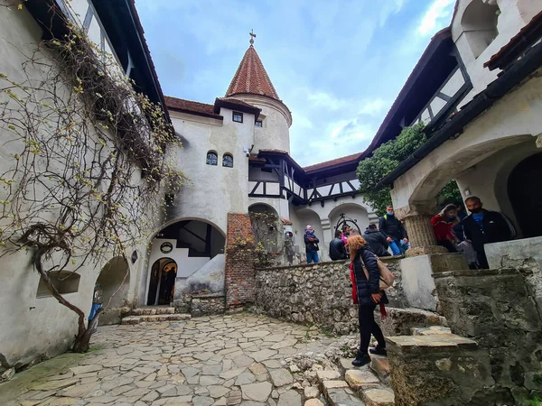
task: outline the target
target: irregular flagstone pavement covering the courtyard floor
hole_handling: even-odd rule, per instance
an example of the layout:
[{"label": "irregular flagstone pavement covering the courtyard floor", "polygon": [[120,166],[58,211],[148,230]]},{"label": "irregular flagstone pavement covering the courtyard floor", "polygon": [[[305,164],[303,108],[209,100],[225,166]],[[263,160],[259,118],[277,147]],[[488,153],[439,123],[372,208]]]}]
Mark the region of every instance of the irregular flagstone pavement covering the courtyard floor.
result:
[{"label": "irregular flagstone pavement covering the courtyard floor", "polygon": [[302,391],[283,359],[314,346],[312,334],[251,314],[99,328],[98,349],[13,404],[298,406]]}]

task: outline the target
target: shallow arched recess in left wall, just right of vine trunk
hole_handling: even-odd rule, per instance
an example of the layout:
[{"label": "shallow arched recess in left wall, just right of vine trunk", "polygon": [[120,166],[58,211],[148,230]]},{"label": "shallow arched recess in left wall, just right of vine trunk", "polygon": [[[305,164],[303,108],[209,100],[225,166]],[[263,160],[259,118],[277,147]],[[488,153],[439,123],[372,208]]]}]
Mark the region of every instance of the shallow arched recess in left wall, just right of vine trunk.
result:
[{"label": "shallow arched recess in left wall, just right of vine trunk", "polygon": [[126,304],[129,286],[130,271],[122,256],[113,258],[102,268],[94,295],[94,301],[104,309],[99,316],[99,326],[120,323],[121,308]]}]

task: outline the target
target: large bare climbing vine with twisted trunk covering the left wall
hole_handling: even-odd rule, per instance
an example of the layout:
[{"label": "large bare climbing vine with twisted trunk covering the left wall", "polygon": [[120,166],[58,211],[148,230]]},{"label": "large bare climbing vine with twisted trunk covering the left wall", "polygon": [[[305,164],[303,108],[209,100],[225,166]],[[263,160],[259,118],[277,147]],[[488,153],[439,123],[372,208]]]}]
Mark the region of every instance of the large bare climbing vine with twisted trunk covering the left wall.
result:
[{"label": "large bare climbing vine with twisted trunk covering the left wall", "polygon": [[163,216],[164,190],[184,177],[167,159],[181,143],[162,108],[66,24],[64,38],[18,50],[15,78],[0,72],[0,255],[28,252],[52,296],[78,315],[73,350],[86,351],[98,317],[86,326],[51,272],[126,258]]}]

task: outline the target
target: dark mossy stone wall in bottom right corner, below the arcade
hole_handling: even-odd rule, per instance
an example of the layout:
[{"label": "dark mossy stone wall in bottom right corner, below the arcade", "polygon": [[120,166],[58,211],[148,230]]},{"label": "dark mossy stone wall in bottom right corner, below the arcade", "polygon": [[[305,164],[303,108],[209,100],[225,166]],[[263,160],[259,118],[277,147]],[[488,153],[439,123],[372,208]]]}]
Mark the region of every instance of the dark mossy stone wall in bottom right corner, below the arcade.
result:
[{"label": "dark mossy stone wall in bottom right corner, below the arcade", "polygon": [[483,392],[499,404],[542,395],[542,303],[530,275],[531,269],[435,273],[452,332],[489,353],[495,383]]}]

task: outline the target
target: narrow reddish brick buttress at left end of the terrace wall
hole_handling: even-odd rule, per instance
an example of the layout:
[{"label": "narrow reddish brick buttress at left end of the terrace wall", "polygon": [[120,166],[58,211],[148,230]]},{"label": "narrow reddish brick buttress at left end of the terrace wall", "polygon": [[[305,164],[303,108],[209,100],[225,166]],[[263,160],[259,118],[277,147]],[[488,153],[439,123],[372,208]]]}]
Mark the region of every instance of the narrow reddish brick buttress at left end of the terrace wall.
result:
[{"label": "narrow reddish brick buttress at left end of the terrace wall", "polygon": [[250,217],[246,214],[229,213],[224,271],[227,309],[254,302],[254,254],[249,250],[238,249],[239,241],[246,241],[248,244],[254,242]]}]

